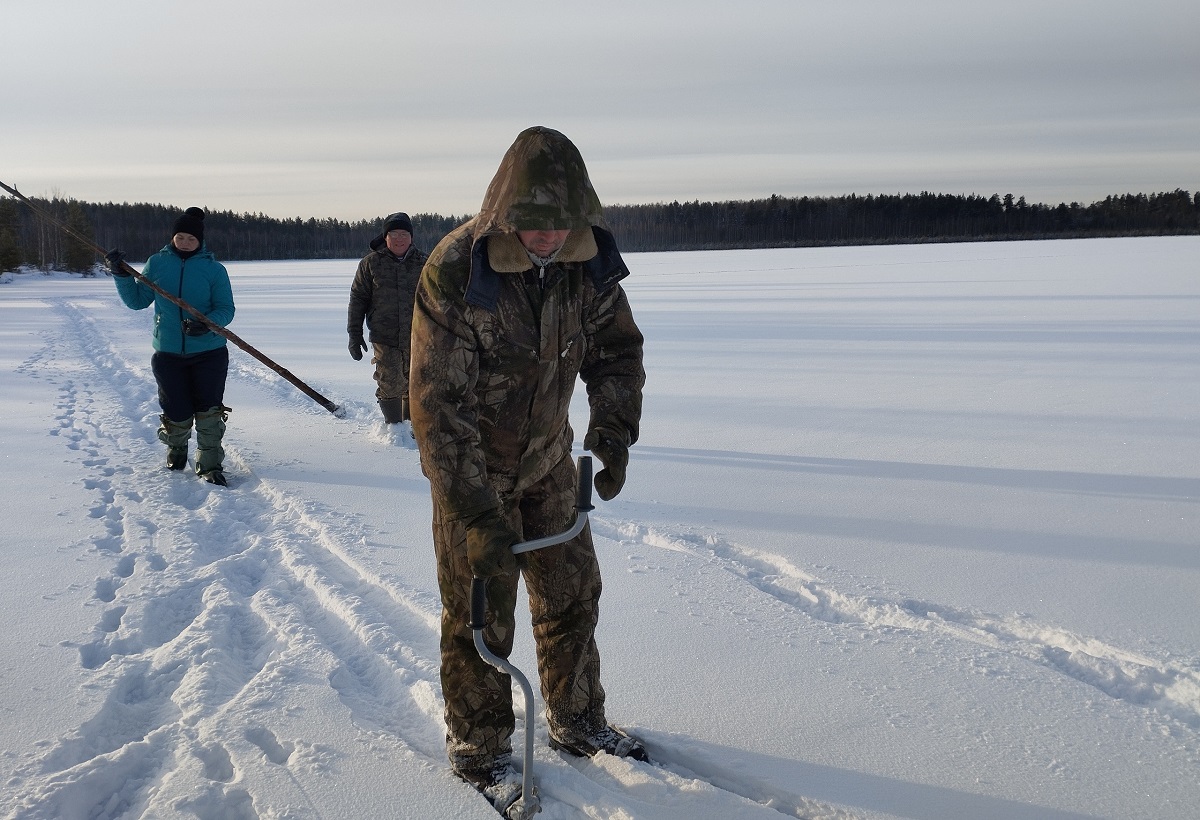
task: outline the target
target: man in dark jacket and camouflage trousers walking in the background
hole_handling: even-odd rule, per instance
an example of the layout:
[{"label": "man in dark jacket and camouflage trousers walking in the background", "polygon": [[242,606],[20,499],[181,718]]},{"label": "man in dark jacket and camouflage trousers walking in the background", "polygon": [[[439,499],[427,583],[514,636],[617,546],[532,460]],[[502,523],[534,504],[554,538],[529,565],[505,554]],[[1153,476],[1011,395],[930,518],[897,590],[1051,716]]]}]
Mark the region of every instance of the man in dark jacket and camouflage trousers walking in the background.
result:
[{"label": "man in dark jacket and camouflage trousers walking in the background", "polygon": [[371,240],[371,252],[359,262],[350,285],[346,329],[350,355],[362,360],[367,349],[362,319],[371,331],[376,366],[376,397],[388,424],[408,419],[408,343],[413,328],[413,294],[427,255],[413,245],[408,214],[388,216],[383,233]]}]

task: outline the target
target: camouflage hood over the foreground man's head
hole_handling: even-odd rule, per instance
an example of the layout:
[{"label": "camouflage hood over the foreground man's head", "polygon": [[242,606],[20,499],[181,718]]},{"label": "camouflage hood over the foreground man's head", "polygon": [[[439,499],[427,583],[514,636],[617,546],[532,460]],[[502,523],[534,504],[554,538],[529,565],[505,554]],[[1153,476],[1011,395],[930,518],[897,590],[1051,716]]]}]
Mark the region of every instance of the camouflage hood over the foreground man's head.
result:
[{"label": "camouflage hood over the foreground man's head", "polygon": [[575,144],[545,126],[517,134],[487,186],[474,239],[516,231],[604,228],[600,198]]}]

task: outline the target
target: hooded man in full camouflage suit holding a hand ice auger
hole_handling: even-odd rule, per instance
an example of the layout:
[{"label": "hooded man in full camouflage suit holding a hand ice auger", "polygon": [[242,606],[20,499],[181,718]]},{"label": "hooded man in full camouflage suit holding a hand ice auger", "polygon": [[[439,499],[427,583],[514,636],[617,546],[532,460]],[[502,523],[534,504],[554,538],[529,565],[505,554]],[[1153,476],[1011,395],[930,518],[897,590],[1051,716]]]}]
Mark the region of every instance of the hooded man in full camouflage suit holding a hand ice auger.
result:
[{"label": "hooded man in full camouflage suit holding a hand ice auger", "polygon": [[624,484],[646,382],[628,275],[578,150],[533,127],[509,148],[480,213],[434,249],[416,291],[409,395],[433,496],[446,752],[502,813],[520,797],[512,693],[474,648],[472,576],[488,579],[485,640],[502,657],[526,580],[551,746],[646,759],[605,717],[590,531],[520,562],[512,553],[574,521],[576,377],[590,406],[583,445],[604,465],[596,491],[607,501]]}]

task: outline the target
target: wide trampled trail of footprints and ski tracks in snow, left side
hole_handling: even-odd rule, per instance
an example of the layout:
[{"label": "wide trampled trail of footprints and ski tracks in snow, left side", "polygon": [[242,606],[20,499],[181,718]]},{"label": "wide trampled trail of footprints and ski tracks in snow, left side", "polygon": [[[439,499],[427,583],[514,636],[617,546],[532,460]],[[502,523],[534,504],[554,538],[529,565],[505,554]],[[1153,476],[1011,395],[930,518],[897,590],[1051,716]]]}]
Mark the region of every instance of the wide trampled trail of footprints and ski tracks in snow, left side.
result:
[{"label": "wide trampled trail of footprints and ski tracks in snow, left side", "polygon": [[[284,735],[287,716],[272,706],[287,701],[281,688],[312,686],[314,670],[362,743],[444,768],[437,595],[356,562],[346,547],[359,540],[352,522],[259,479],[236,445],[226,445],[229,489],[191,471],[164,474],[149,365],[109,342],[89,306],[62,300],[54,309],[60,329],[19,370],[58,388],[52,435],[94,493],[89,515],[101,526],[90,547],[112,558],[91,592],[100,613],[91,636],[65,642],[103,699],[77,730],[25,755],[6,784],[10,816],[319,816],[301,779],[325,776],[341,753]],[[230,377],[299,401],[282,378],[264,379],[241,357]],[[373,439],[415,449],[407,436],[371,426],[374,409],[360,403],[347,417]],[[518,710],[517,737],[524,717]],[[229,725],[245,729],[230,735]],[[566,761],[547,748],[545,728],[539,734],[547,820],[636,816],[628,801],[684,818],[697,795],[734,813],[754,806],[809,820],[853,816],[752,784],[714,785],[714,773],[678,758],[659,766]],[[247,782],[269,784],[269,797],[240,785]]]}]

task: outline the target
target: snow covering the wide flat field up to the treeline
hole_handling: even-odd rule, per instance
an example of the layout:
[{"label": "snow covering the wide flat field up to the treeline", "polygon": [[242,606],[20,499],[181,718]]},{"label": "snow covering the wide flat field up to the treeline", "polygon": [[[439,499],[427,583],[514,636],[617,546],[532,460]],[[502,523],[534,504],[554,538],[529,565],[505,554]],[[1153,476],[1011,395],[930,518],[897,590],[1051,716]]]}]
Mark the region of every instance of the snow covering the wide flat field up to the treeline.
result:
[{"label": "snow covering the wide flat field up to the treeline", "polygon": [[[592,523],[610,718],[660,765],[539,722],[539,816],[1196,816],[1198,258],[630,255],[646,415]],[[150,311],[0,286],[0,815],[494,820],[445,766],[428,487],[346,351],[354,264],[229,265],[232,329],[346,418],[234,349],[228,489],[162,467]]]}]

